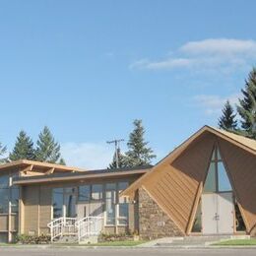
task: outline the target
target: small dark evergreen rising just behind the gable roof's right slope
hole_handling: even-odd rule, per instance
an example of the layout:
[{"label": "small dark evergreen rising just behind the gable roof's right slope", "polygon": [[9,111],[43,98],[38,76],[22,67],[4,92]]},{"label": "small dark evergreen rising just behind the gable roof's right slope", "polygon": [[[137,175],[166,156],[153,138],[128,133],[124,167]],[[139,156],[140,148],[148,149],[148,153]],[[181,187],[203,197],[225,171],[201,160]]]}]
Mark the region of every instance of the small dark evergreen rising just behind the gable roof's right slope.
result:
[{"label": "small dark evergreen rising just behind the gable roof's right slope", "polygon": [[223,115],[219,118],[219,127],[226,131],[236,131],[237,121],[235,120],[236,113],[234,113],[230,102],[227,100],[224,104]]}]

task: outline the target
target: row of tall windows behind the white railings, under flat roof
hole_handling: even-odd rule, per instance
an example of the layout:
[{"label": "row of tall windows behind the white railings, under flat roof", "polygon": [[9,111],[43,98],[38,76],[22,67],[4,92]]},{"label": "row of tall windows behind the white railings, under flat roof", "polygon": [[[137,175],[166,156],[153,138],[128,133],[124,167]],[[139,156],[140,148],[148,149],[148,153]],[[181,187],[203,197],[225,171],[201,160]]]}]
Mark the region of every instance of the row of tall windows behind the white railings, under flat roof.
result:
[{"label": "row of tall windows behind the white railings, under flat roof", "polygon": [[[128,187],[128,182],[86,184],[78,188],[54,188],[53,189],[53,218],[62,216],[68,218],[77,217],[77,207],[84,205],[88,211],[85,215],[103,214],[105,211],[105,224],[128,224],[128,204],[119,193]],[[98,203],[97,203],[98,202]],[[98,211],[91,212],[90,204],[97,203]]]}]

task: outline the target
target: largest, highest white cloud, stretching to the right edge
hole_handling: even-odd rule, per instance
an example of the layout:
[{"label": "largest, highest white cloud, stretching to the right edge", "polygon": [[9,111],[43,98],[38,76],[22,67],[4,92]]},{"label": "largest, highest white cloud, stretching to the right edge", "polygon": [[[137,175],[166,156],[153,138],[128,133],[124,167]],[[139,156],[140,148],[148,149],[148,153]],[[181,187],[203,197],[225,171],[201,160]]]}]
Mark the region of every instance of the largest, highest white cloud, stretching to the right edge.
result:
[{"label": "largest, highest white cloud, stretching to the right edge", "polygon": [[130,68],[149,70],[223,69],[245,67],[256,61],[256,41],[238,39],[205,39],[190,41],[160,60],[141,59]]}]

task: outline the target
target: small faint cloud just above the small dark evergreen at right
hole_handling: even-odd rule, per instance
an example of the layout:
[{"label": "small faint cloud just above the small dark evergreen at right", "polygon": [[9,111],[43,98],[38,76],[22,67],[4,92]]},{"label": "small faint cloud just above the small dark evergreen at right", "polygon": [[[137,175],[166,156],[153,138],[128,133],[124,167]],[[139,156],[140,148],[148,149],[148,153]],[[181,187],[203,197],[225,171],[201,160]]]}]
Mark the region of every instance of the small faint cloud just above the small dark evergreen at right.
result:
[{"label": "small faint cloud just above the small dark evergreen at right", "polygon": [[194,96],[194,101],[199,107],[204,109],[206,114],[211,115],[220,114],[227,99],[232,105],[236,104],[239,96],[239,94],[234,94],[231,96],[200,95]]}]

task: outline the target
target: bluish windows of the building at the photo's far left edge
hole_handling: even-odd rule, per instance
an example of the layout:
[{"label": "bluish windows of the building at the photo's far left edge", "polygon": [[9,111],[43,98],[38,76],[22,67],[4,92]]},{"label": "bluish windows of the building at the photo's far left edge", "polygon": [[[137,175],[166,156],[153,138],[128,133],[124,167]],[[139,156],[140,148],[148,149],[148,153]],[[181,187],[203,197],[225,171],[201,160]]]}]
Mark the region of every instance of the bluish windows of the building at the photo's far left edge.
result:
[{"label": "bluish windows of the building at the photo's far left edge", "polygon": [[9,213],[9,202],[11,213],[18,213],[20,189],[11,185],[11,175],[0,176],[0,214]]}]

